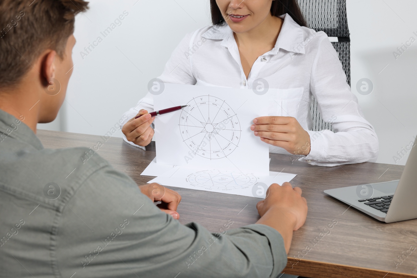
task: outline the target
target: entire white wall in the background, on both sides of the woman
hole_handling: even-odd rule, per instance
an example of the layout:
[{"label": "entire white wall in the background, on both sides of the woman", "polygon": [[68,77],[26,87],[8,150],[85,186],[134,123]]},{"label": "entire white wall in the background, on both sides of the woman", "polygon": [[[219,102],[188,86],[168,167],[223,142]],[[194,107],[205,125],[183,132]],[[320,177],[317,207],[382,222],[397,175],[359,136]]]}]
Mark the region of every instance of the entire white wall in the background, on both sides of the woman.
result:
[{"label": "entire white wall in the background, on both sides of the woman", "polygon": [[[122,24],[104,38],[100,32],[125,10],[129,14]],[[377,131],[380,163],[394,164],[393,156],[417,135],[417,41],[397,60],[392,54],[411,36],[417,39],[415,10],[415,0],[347,1],[352,92]],[[75,67],[64,110],[39,128],[107,133],[146,94],[148,81],[161,74],[183,36],[208,24],[208,0],[90,0],[90,10],[76,20]],[[83,59],[80,52],[87,53],[84,48],[98,36],[103,41]],[[356,90],[362,78],[374,85],[369,95]]]}]

